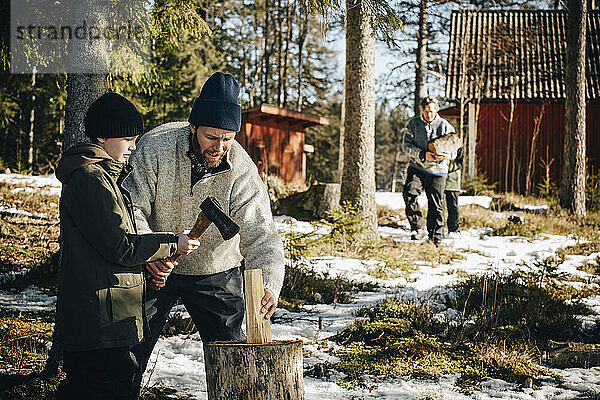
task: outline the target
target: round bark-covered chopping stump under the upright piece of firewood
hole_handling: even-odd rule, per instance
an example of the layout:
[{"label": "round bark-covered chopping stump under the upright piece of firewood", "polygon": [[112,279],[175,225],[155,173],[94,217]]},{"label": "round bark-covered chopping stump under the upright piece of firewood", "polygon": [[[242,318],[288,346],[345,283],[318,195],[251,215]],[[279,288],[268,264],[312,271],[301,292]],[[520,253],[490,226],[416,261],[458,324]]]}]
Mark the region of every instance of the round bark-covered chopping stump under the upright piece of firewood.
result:
[{"label": "round bark-covered chopping stump under the upright piece of firewood", "polygon": [[204,345],[209,400],[303,400],[302,341]]}]

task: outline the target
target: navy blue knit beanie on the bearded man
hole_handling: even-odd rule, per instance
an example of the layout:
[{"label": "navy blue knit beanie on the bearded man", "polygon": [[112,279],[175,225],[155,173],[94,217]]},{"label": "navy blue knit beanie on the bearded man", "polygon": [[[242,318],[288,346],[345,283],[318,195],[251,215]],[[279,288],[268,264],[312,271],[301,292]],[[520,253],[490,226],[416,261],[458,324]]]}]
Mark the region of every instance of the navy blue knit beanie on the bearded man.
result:
[{"label": "navy blue knit beanie on the bearded man", "polygon": [[240,86],[233,76],[214,73],[194,101],[189,123],[239,132],[242,126],[242,108],[237,103],[239,94]]}]

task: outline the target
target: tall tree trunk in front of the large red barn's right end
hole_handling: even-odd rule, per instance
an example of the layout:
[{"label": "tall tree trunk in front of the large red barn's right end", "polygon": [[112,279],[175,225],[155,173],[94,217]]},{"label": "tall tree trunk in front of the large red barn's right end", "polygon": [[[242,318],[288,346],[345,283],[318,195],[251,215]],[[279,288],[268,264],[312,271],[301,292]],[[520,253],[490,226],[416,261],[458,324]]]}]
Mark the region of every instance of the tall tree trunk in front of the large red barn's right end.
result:
[{"label": "tall tree trunk in front of the large red barn's right end", "polygon": [[587,0],[569,0],[565,142],[560,204],[585,215],[585,41]]}]

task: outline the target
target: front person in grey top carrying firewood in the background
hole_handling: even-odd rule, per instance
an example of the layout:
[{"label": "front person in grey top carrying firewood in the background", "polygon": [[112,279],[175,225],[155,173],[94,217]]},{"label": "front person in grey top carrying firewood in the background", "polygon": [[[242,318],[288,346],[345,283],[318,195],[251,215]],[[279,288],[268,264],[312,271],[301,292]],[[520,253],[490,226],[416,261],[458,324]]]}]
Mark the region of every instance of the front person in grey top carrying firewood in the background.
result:
[{"label": "front person in grey top carrying firewood in the background", "polygon": [[439,103],[431,96],[420,104],[421,115],[408,121],[402,148],[410,157],[403,197],[411,238],[417,240],[423,227],[423,213],[417,201],[422,190],[427,195],[427,231],[429,240],[439,246],[444,236],[444,187],[448,160],[456,154],[434,154],[428,149],[433,140],[454,132],[448,121],[438,115]]}]

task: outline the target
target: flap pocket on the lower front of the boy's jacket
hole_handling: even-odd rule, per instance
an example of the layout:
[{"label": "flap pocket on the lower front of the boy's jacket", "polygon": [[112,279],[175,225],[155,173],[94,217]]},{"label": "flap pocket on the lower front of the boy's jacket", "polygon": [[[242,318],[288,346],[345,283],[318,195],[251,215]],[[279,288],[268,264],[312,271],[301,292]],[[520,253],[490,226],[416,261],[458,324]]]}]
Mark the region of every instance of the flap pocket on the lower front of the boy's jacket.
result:
[{"label": "flap pocket on the lower front of the boy's jacket", "polygon": [[112,322],[128,318],[142,320],[143,280],[141,273],[119,273],[113,276],[117,282],[111,285],[110,302]]}]

